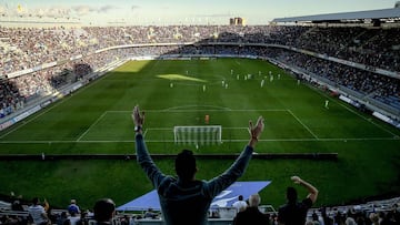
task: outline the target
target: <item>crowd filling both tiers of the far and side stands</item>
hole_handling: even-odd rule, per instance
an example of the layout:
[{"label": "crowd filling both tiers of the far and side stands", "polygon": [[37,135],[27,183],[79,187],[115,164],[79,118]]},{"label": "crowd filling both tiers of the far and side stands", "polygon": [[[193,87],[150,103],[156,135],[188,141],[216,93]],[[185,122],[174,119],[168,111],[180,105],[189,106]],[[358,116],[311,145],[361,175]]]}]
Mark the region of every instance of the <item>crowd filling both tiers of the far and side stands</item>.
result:
[{"label": "crowd filling both tiers of the far and side stands", "polygon": [[[251,45],[280,44],[298,48],[399,73],[399,29],[301,25],[136,25],[46,29],[0,27],[0,114],[10,114],[23,108],[27,101],[83,79],[86,74],[117,59],[162,54],[270,57],[324,76],[338,85],[344,85],[362,94],[372,94],[386,104],[394,101],[396,105],[400,105],[399,79],[343,67],[294,51]],[[128,48],[128,44],[136,45]],[[110,49],[98,51],[106,48]],[[42,64],[54,62],[57,65],[40,69]],[[18,71],[37,68],[39,70],[24,75],[10,79],[7,76]],[[388,102],[387,98],[394,99]]]}]

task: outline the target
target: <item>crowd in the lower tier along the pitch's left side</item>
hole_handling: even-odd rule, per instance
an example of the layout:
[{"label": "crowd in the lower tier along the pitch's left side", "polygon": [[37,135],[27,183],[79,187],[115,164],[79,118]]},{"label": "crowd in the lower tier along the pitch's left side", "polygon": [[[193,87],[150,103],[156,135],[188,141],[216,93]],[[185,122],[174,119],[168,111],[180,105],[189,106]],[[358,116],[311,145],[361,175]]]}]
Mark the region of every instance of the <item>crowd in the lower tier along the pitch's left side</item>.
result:
[{"label": "crowd in the lower tier along the pitch's left side", "polygon": [[26,103],[54,93],[62,86],[86,79],[92,71],[126,58],[128,50],[110,50],[70,61],[27,75],[0,80],[0,119],[22,109]]}]

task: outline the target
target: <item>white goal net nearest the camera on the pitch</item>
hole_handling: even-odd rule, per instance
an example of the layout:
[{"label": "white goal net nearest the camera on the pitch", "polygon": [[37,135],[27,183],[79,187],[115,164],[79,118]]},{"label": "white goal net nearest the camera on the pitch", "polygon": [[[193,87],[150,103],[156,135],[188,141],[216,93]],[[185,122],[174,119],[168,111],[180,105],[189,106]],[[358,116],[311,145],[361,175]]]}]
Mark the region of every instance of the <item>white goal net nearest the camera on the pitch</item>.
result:
[{"label": "white goal net nearest the camera on the pitch", "polygon": [[174,126],[173,139],[176,144],[211,145],[222,142],[222,126]]}]

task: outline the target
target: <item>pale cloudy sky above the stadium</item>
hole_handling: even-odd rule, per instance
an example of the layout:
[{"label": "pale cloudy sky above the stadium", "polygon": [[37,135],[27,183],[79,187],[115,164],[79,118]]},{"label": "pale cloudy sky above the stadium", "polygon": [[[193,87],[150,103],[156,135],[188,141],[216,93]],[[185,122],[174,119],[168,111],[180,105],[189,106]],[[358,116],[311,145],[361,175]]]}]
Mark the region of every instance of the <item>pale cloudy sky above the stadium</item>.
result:
[{"label": "pale cloudy sky above the stadium", "polygon": [[274,18],[393,8],[397,0],[0,0],[0,21],[57,18],[82,24],[247,24]]}]

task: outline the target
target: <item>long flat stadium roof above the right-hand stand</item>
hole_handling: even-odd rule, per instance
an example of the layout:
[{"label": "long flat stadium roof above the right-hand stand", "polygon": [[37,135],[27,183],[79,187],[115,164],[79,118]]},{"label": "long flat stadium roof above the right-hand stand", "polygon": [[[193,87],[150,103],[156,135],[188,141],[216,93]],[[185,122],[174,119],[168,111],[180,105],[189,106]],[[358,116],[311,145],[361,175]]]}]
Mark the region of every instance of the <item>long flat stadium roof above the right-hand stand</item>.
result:
[{"label": "long flat stadium roof above the right-hand stand", "polygon": [[400,8],[380,9],[358,12],[340,12],[328,14],[316,14],[292,18],[277,18],[272,22],[322,22],[322,21],[351,21],[351,20],[366,20],[366,19],[396,19],[400,18]]}]

